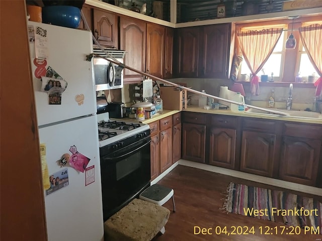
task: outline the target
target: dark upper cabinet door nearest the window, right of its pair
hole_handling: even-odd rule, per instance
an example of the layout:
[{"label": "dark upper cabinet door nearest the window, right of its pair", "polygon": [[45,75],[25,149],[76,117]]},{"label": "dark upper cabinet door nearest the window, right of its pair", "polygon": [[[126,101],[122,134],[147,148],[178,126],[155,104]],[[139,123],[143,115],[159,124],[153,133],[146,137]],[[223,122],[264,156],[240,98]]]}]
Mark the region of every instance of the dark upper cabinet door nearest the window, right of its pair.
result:
[{"label": "dark upper cabinet door nearest the window, right of its pair", "polygon": [[199,77],[225,78],[228,76],[229,26],[229,24],[220,24],[202,28]]}]

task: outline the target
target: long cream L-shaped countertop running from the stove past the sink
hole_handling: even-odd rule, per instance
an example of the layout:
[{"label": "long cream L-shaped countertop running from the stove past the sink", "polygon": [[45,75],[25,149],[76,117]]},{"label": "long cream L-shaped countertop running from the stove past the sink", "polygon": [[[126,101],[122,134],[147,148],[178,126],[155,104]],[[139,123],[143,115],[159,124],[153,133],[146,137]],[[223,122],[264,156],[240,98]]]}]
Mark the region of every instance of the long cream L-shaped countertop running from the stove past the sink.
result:
[{"label": "long cream L-shaped countertop running from the stove past the sink", "polygon": [[[190,105],[187,109],[183,111],[190,111],[190,112],[199,112],[199,113],[207,113],[207,114],[225,114],[225,115],[233,115],[233,116],[244,116],[244,117],[253,117],[253,118],[261,118],[261,119],[274,119],[278,121],[289,121],[289,122],[299,122],[299,123],[310,123],[310,124],[320,124],[322,125],[322,119],[317,118],[295,118],[295,117],[287,117],[287,116],[275,116],[275,115],[263,115],[263,114],[256,114],[256,113],[245,113],[245,112],[232,112],[231,110],[227,109],[204,109],[202,107]],[[122,118],[120,120],[127,121],[127,122],[137,122],[143,124],[150,124],[152,122],[158,121],[159,119],[168,117],[175,113],[180,112],[180,110],[169,110],[164,109],[162,114],[156,114],[150,119],[145,119],[144,121],[137,121],[135,118]]]}]

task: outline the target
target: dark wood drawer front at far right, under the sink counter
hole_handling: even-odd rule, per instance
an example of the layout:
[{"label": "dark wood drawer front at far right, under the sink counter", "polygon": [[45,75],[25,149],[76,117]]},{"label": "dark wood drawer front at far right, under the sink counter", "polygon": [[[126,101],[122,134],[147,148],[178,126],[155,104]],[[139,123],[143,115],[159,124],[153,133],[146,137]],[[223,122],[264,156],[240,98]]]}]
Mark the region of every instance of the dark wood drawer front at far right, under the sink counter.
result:
[{"label": "dark wood drawer front at far right, under the sink counter", "polygon": [[322,126],[285,123],[284,136],[322,139]]}]

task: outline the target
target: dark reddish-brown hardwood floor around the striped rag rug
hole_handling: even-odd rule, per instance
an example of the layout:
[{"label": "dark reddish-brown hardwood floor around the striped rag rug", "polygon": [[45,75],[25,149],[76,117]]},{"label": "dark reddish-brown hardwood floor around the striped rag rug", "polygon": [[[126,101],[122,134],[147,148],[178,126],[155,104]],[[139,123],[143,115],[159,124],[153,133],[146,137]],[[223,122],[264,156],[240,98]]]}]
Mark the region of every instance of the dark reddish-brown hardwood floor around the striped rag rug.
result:
[{"label": "dark reddish-brown hardwood floor around the striped rag rug", "polygon": [[[167,176],[158,182],[174,189],[176,212],[171,212],[168,223],[166,224],[166,232],[164,235],[156,236],[153,241],[190,241],[190,240],[322,240],[322,234],[304,234],[286,235],[286,234],[260,234],[259,227],[265,226],[279,227],[285,226],[283,223],[260,220],[253,217],[238,215],[234,213],[226,213],[220,208],[223,205],[223,194],[230,182],[241,183],[250,186],[258,186],[275,190],[284,190],[297,193],[307,197],[314,195],[303,194],[283,188],[272,187],[269,185],[252,182],[245,179],[234,178],[222,174],[208,172],[196,168],[178,165]],[[315,196],[320,201],[322,197]],[[173,210],[172,199],[164,204],[165,207]],[[194,226],[201,228],[212,228],[212,234],[194,234]],[[227,231],[231,230],[230,226],[254,226],[255,234],[248,235],[225,235],[215,234],[215,227],[227,226]],[[245,230],[245,229],[244,229]],[[264,232],[264,231],[263,231]],[[322,230],[319,230],[322,233]],[[280,233],[280,232],[279,232]]]}]

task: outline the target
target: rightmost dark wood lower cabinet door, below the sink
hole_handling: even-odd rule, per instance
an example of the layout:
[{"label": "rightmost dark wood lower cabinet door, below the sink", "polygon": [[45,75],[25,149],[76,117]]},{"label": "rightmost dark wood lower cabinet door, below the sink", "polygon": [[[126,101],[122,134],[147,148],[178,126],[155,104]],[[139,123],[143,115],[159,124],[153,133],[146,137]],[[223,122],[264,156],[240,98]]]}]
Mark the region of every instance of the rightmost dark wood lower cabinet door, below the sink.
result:
[{"label": "rightmost dark wood lower cabinet door, below the sink", "polygon": [[284,137],[280,157],[280,179],[316,186],[320,148],[320,140]]}]

